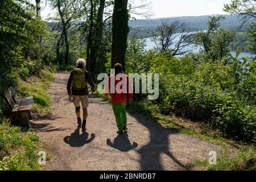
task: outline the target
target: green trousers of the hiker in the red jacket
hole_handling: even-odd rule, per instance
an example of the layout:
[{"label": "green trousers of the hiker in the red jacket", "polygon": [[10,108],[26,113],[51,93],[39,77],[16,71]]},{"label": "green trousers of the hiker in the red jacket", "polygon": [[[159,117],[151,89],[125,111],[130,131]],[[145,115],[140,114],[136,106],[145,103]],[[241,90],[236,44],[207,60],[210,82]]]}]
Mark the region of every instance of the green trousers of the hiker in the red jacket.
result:
[{"label": "green trousers of the hiker in the red jacket", "polygon": [[112,102],[112,106],[115,115],[115,122],[117,122],[118,131],[122,131],[123,126],[127,125],[126,102]]}]

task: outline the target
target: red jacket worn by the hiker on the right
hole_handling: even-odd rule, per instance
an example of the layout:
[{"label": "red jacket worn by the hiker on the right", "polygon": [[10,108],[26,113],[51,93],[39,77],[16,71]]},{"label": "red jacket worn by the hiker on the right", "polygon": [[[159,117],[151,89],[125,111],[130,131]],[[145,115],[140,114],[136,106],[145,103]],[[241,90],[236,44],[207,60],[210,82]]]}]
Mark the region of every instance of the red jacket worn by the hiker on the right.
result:
[{"label": "red jacket worn by the hiker on the right", "polygon": [[[122,74],[122,73],[121,73]],[[121,90],[119,90],[118,88],[116,88],[116,85],[122,81],[122,77],[120,80],[117,80],[115,79],[115,75],[111,75],[108,79],[108,81],[106,82],[106,86],[105,86],[105,95],[106,97],[111,96],[111,100],[112,102],[114,103],[119,103],[119,102],[126,102],[126,95],[128,93],[128,97],[129,98],[133,98],[133,93],[129,93],[129,88],[131,90],[131,84],[130,84],[130,81],[129,81],[129,77],[127,75],[125,75],[123,73],[123,76],[125,77],[125,82],[127,84],[126,88],[122,88],[122,85],[121,86],[118,86],[118,88],[120,88]],[[112,84],[112,80],[115,80],[115,84],[114,84],[114,87],[115,87],[115,92],[114,93],[111,93],[111,84]],[[121,84],[121,83],[120,83]],[[119,91],[119,92],[118,92]],[[124,93],[126,91],[126,93]]]}]

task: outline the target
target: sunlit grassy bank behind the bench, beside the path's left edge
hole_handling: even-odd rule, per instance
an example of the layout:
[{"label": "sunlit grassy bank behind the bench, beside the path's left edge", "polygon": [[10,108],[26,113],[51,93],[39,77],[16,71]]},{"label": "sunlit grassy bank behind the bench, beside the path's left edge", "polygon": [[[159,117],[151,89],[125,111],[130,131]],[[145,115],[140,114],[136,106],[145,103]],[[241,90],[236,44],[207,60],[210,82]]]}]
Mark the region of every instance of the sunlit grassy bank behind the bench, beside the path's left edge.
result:
[{"label": "sunlit grassy bank behind the bench, beside the path's left edge", "polygon": [[32,96],[34,113],[48,113],[50,111],[51,98],[46,93],[53,81],[53,73],[49,71],[40,71],[38,76],[27,78],[26,81],[19,80],[17,91],[21,96]]}]

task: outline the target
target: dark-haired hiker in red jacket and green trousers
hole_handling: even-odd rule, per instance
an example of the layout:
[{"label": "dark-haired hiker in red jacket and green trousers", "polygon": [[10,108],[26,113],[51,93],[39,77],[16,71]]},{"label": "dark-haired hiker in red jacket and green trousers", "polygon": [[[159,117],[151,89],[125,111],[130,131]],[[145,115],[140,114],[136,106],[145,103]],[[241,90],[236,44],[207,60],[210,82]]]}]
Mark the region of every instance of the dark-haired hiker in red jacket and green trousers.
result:
[{"label": "dark-haired hiker in red jacket and green trousers", "polygon": [[122,135],[123,131],[127,131],[126,96],[128,93],[129,104],[132,104],[133,93],[129,93],[129,90],[131,90],[131,84],[129,82],[129,77],[122,72],[122,65],[117,63],[114,65],[114,69],[115,74],[111,75],[106,82],[105,97],[109,98],[110,93],[115,121],[117,122],[118,127],[117,133]]}]

